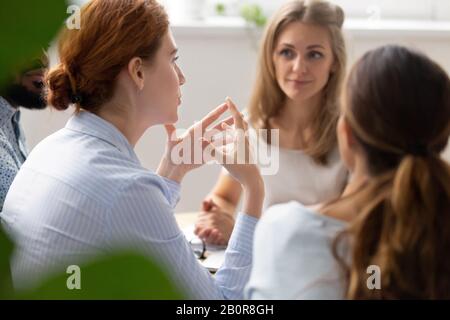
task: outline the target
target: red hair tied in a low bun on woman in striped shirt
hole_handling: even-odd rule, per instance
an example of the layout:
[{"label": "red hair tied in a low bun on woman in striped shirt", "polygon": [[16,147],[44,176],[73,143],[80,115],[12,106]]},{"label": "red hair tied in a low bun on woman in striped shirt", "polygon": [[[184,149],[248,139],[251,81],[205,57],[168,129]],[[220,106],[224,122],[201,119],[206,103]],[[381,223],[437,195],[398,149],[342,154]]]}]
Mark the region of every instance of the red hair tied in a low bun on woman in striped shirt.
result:
[{"label": "red hair tied in a low bun on woman in striped shirt", "polygon": [[155,0],[91,0],[81,9],[80,29],[60,34],[60,63],[46,77],[49,104],[98,111],[133,57],[151,62],[168,26]]}]

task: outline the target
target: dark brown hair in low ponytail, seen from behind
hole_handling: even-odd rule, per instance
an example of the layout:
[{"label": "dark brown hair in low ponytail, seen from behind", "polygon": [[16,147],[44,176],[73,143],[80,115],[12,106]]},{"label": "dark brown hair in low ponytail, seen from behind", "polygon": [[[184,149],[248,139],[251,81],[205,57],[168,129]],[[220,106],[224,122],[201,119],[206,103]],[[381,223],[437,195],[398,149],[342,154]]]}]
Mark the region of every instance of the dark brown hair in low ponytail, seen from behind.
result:
[{"label": "dark brown hair in low ponytail, seen from behind", "polygon": [[[343,116],[370,179],[352,197],[363,209],[334,243],[351,299],[450,298],[450,80],[425,55],[400,46],[368,52],[349,76]],[[350,239],[351,262],[338,255]],[[381,290],[367,287],[367,268]]]}]

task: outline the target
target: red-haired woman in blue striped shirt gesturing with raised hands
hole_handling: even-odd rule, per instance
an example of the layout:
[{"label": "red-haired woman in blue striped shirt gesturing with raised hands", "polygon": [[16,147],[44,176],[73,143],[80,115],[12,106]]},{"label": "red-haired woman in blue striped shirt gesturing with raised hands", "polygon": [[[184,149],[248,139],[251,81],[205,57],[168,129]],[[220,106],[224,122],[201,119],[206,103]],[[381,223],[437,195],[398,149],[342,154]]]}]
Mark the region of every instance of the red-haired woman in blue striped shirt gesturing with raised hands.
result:
[{"label": "red-haired woman in blue striped shirt gesturing with raised hands", "polygon": [[156,257],[189,297],[241,298],[264,196],[257,167],[227,166],[245,190],[245,213],[213,278],[173,215],[181,180],[199,165],[176,165],[170,157],[194,130],[207,137],[206,128],[227,109],[232,119],[225,122],[244,129],[241,114],[231,101],[222,104],[183,138],[169,139],[156,173],[144,169],[133,148],[154,125],[164,124],[173,136],[185,82],[167,15],[153,0],[93,0],[81,21],[80,30],[62,35],[61,63],[47,77],[49,103],[58,110],[73,103],[76,113],[33,150],[1,216],[17,243],[16,287],[120,248]]}]

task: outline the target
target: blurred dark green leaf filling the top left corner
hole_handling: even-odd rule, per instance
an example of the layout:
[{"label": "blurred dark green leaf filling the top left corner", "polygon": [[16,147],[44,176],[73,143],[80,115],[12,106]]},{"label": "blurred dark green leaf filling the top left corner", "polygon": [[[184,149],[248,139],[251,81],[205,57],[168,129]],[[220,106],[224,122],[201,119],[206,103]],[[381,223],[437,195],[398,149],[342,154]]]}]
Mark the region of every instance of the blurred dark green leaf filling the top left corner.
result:
[{"label": "blurred dark green leaf filling the top left corner", "polygon": [[64,0],[2,0],[0,4],[0,88],[36,61],[63,26]]}]

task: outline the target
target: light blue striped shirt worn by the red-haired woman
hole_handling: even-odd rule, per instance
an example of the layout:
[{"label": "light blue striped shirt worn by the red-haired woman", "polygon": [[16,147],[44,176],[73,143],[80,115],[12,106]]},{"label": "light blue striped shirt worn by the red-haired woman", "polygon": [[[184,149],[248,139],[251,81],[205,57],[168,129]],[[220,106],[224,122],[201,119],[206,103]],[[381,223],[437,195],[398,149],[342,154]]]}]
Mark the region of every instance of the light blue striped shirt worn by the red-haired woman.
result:
[{"label": "light blue striped shirt worn by the red-haired woman", "polygon": [[179,184],[141,166],[109,122],[89,112],[43,140],[16,176],[1,213],[16,241],[17,288],[94,256],[134,249],[156,257],[195,299],[241,299],[257,219],[239,214],[215,277],[203,268],[173,213]]}]

